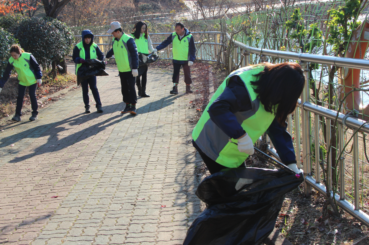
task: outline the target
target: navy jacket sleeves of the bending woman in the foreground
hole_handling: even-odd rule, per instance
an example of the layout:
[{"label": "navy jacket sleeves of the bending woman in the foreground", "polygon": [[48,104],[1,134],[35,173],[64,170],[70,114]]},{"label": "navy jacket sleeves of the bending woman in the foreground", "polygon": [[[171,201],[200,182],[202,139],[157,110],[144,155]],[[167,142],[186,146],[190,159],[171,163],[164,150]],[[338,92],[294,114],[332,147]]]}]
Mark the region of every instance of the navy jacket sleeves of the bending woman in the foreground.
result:
[{"label": "navy jacket sleeves of the bending woman in the foreground", "polygon": [[[239,76],[233,76],[228,82],[228,87],[225,88],[224,92],[210,105],[208,113],[210,119],[223,130],[228,137],[238,139],[246,132],[237,122],[234,113],[251,109],[251,101],[243,81]],[[274,119],[266,133],[269,135],[282,162],[288,164],[296,163],[292,137],[286,129],[287,126],[283,127]]]}]

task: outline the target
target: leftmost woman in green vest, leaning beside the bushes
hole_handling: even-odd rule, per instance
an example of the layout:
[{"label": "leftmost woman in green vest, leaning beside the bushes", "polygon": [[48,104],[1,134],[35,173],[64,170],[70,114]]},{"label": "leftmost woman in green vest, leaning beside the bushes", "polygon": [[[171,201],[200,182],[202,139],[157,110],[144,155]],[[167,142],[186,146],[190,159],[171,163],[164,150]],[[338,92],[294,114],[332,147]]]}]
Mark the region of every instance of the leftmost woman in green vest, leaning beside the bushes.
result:
[{"label": "leftmost woman in green vest, leaning beside the bushes", "polygon": [[11,57],[8,60],[8,64],[3,73],[3,77],[0,79],[0,92],[4,87],[4,84],[8,81],[11,70],[13,68],[18,74],[18,97],[17,97],[17,106],[15,107],[15,115],[11,119],[13,121],[21,121],[22,116],[22,107],[23,107],[23,98],[25,95],[25,90],[28,87],[28,93],[30,94],[31,108],[32,108],[32,116],[30,117],[30,121],[34,121],[37,119],[38,115],[38,105],[37,105],[37,97],[36,97],[36,88],[37,86],[41,86],[42,73],[40,66],[38,65],[35,57],[31,53],[23,52],[20,46],[14,44],[10,47],[10,55]]}]

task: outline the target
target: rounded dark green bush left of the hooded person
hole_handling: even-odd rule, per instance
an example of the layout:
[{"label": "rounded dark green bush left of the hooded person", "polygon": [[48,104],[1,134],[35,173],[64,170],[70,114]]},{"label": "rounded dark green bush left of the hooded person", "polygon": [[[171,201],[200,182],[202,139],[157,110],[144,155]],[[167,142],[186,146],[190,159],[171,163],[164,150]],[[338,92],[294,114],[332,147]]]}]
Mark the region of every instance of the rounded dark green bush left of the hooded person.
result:
[{"label": "rounded dark green bush left of the hooded person", "polygon": [[44,65],[63,59],[73,48],[69,27],[50,17],[24,19],[14,37],[26,52],[32,53]]}]

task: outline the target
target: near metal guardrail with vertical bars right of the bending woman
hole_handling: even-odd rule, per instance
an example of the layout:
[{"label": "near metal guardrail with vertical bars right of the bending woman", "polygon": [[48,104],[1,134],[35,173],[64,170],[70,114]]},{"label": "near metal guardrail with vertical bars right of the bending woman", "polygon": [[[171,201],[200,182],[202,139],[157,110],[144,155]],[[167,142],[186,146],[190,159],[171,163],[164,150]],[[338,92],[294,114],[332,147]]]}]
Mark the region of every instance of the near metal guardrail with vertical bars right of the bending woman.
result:
[{"label": "near metal guardrail with vertical bars right of the bending woman", "polygon": [[[227,34],[227,40],[230,40],[230,35]],[[268,49],[259,49],[253,48],[250,46],[246,46],[244,43],[234,41],[231,42],[234,44],[234,52],[232,52],[232,57],[230,57],[230,61],[235,65],[235,67],[244,67],[250,64],[250,55],[256,54],[260,55],[261,61],[265,61],[267,56],[282,58],[286,60],[300,61],[300,65],[303,68],[304,75],[306,78],[305,88],[303,93],[301,94],[301,100],[299,101],[299,106],[296,108],[294,112],[294,132],[292,125],[292,116],[288,117],[288,130],[289,133],[295,139],[295,150],[296,150],[296,159],[299,162],[301,160],[300,157],[300,144],[302,141],[302,160],[303,160],[303,169],[304,169],[304,177],[306,179],[304,183],[304,192],[308,194],[311,192],[311,187],[316,189],[318,192],[326,196],[326,187],[322,183],[321,172],[320,172],[320,161],[324,158],[320,153],[320,146],[323,145],[327,149],[329,146],[329,142],[331,141],[331,132],[333,127],[326,127],[326,137],[324,143],[324,137],[322,129],[320,131],[320,123],[325,121],[326,125],[331,125],[331,121],[333,122],[337,116],[337,111],[333,111],[327,109],[323,106],[315,105],[311,103],[310,100],[310,88],[309,88],[309,62],[318,63],[318,64],[330,64],[340,67],[350,67],[357,68],[363,70],[369,70],[369,60],[362,59],[351,59],[344,57],[332,57],[332,56],[323,56],[323,55],[313,55],[313,54],[305,54],[305,53],[293,53],[279,50],[268,50]],[[244,59],[240,59],[240,56],[244,56]],[[241,62],[242,60],[242,62]],[[239,64],[241,62],[241,64]],[[301,127],[300,127],[300,109],[301,109]],[[311,116],[313,113],[313,117]],[[327,156],[327,160],[324,161],[328,164],[328,169],[331,171],[327,171],[327,183],[328,188],[330,190],[331,197],[334,197],[339,207],[347,211],[349,214],[354,216],[356,219],[361,221],[363,224],[369,227],[369,216],[368,216],[368,206],[369,203],[365,203],[363,200],[363,192],[367,191],[369,188],[366,185],[366,180],[363,176],[360,176],[360,171],[364,171],[366,167],[368,167],[369,163],[364,162],[365,159],[363,155],[364,148],[359,147],[359,136],[358,133],[353,135],[353,143],[352,143],[352,151],[345,151],[345,135],[354,133],[359,127],[361,127],[365,121],[348,117],[345,121],[348,127],[352,129],[345,129],[342,124],[342,118],[345,115],[339,113],[337,120],[337,134],[338,134],[338,144],[337,146],[332,146],[337,149],[337,152],[344,151],[344,154],[338,159],[338,174],[336,180],[339,183],[339,188],[336,193],[333,193],[332,188],[332,174],[334,174],[335,169],[332,168],[331,165],[331,155]],[[323,117],[323,120],[320,118]],[[312,121],[313,120],[313,121]],[[313,124],[312,124],[313,122]],[[312,125],[314,125],[314,130],[312,130]],[[301,133],[300,133],[301,128]],[[366,124],[360,129],[363,133],[369,133],[369,125]],[[323,140],[321,140],[323,139]],[[301,141],[300,141],[301,140]],[[365,138],[361,137],[363,147],[365,147]],[[315,150],[312,151],[312,143],[314,143]],[[350,153],[352,152],[352,155]],[[359,157],[361,153],[361,158]],[[339,154],[337,154],[339,155]],[[315,160],[315,165],[312,165],[312,158]],[[346,159],[345,159],[346,158]],[[345,162],[346,160],[346,162]],[[349,162],[352,160],[352,165],[349,166]],[[359,166],[359,162],[362,166]],[[346,165],[345,165],[346,164]],[[346,168],[351,168],[351,172]],[[314,171],[313,171],[314,170]],[[350,169],[349,169],[350,170]],[[332,172],[333,171],[333,172]],[[362,179],[361,179],[362,177]],[[345,184],[348,182],[348,184]],[[351,182],[351,183],[350,183]],[[351,185],[351,186],[350,186]],[[366,212],[364,212],[364,211]]]}]

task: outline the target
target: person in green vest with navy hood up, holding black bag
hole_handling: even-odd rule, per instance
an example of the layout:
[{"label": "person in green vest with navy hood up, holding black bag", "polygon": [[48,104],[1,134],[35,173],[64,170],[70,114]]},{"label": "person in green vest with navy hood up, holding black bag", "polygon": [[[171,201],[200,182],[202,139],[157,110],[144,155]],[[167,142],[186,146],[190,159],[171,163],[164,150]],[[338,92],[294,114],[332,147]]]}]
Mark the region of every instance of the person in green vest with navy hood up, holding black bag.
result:
[{"label": "person in green vest with navy hood up, holding black bag", "polygon": [[[72,59],[76,64],[76,75],[79,68],[82,64],[86,63],[86,59],[98,59],[103,60],[104,54],[99,49],[96,43],[93,42],[93,34],[90,30],[83,30],[82,31],[82,41],[77,43],[77,45],[73,49],[73,56]],[[99,90],[97,90],[96,84],[96,76],[92,76],[83,80],[81,83],[82,87],[82,96],[83,96],[83,103],[85,104],[85,112],[90,113],[90,97],[89,97],[89,87],[92,92],[93,98],[96,102],[96,110],[97,112],[103,112],[101,108],[101,101]]]}]

